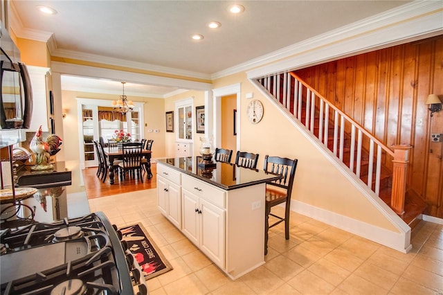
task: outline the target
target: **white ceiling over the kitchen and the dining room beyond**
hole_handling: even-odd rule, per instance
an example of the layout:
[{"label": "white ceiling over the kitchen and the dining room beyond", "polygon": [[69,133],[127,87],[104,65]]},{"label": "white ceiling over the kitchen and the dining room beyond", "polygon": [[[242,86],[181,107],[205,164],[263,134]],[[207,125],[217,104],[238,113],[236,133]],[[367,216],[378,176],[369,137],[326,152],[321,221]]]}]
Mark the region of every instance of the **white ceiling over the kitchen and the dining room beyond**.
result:
[{"label": "white ceiling over the kitchen and the dining room beyond", "polygon": [[[39,1],[12,0],[17,37],[51,36],[52,56],[109,60],[208,78],[280,48],[409,1]],[[232,15],[232,3],[244,6]],[[57,10],[43,15],[37,6]],[[209,21],[221,27],[210,29]],[[195,41],[192,34],[204,35]],[[29,39],[29,37],[28,37]],[[120,81],[62,77],[62,89],[120,93]],[[165,97],[177,88],[125,84],[125,94]]]}]

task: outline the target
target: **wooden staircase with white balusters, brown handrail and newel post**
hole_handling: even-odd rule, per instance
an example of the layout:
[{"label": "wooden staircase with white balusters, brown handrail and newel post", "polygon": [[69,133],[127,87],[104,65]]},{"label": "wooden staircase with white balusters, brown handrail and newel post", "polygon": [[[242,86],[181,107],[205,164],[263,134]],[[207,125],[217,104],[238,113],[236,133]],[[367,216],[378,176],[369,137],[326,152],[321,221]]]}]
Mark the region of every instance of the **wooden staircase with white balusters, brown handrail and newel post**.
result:
[{"label": "wooden staircase with white balusters, brown handrail and newel post", "polygon": [[387,147],[295,73],[268,75],[253,82],[289,111],[406,224],[415,226],[426,203],[406,190],[410,146]]}]

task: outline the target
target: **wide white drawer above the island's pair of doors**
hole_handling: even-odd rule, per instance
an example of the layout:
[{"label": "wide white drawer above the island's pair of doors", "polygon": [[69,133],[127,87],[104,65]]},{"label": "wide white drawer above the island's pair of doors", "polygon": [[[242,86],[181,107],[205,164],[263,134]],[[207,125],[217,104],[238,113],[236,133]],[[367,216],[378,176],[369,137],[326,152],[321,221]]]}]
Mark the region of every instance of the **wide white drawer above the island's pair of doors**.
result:
[{"label": "wide white drawer above the island's pair of doors", "polygon": [[188,190],[202,199],[206,199],[206,201],[215,206],[226,208],[226,193],[223,190],[219,190],[215,188],[215,186],[205,184],[204,181],[188,175],[182,175],[181,179],[181,187],[183,189]]}]

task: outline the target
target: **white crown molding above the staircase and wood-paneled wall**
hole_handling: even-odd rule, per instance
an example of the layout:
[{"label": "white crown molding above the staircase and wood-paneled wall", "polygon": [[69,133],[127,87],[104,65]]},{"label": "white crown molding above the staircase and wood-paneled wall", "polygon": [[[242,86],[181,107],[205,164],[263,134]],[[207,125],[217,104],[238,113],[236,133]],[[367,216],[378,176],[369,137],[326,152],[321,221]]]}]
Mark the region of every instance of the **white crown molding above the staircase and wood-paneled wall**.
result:
[{"label": "white crown molding above the staircase and wood-paneled wall", "polygon": [[[381,12],[378,15],[281,48],[267,55],[262,55],[224,71],[213,73],[211,77],[215,80],[226,75],[278,62],[294,55],[312,53],[328,46],[338,46],[340,48],[333,56],[337,58],[363,50],[369,51],[370,49],[381,48],[381,46],[391,46],[393,42],[406,42],[406,39],[425,36],[430,33],[437,35],[442,30],[442,19],[443,7],[441,1],[413,1],[404,6]],[[348,47],[350,40],[354,40],[354,44],[352,44],[354,50],[352,51]],[[363,46],[363,44],[365,45]],[[330,54],[328,56],[331,57]],[[317,60],[317,62],[320,61],[323,60]]]}]

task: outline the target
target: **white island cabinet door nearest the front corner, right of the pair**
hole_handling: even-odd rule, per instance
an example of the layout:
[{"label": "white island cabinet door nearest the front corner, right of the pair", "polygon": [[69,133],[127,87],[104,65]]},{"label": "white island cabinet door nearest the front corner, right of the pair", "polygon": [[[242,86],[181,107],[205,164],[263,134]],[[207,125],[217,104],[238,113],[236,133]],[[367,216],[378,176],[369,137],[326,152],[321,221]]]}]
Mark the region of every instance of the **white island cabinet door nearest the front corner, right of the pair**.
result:
[{"label": "white island cabinet door nearest the front corner, right of the pair", "polygon": [[224,269],[225,255],[225,211],[200,199],[201,235],[200,249]]}]

